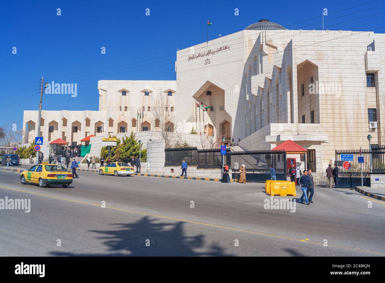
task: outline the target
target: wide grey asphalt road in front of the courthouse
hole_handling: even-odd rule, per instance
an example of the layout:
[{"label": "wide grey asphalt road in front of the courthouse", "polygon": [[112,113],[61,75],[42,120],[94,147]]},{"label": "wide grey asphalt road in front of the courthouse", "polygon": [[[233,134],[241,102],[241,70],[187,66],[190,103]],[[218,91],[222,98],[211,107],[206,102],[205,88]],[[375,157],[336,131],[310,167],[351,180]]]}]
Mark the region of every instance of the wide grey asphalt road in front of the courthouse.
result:
[{"label": "wide grey asphalt road in front of the courthouse", "polygon": [[39,188],[19,176],[0,171],[0,199],[31,211],[0,210],[0,256],[385,255],[385,202],[349,189],[317,187],[293,213],[265,209],[264,184],[79,172]]}]

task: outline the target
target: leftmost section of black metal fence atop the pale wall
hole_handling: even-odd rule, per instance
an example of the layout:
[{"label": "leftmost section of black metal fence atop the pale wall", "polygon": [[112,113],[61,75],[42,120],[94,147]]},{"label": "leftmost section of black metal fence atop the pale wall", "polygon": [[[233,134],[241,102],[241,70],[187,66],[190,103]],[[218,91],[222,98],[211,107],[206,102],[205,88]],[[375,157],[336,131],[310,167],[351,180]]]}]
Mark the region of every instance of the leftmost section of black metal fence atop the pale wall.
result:
[{"label": "leftmost section of black metal fence atop the pale wall", "polygon": [[196,147],[166,148],[164,150],[164,166],[180,166],[186,161],[189,166],[197,166],[198,153]]}]

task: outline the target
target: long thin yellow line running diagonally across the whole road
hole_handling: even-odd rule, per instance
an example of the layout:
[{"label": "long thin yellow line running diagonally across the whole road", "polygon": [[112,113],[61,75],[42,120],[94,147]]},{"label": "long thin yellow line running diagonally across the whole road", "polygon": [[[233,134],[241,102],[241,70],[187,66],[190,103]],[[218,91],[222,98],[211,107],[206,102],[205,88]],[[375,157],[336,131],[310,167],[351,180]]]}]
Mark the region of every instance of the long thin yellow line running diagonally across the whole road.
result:
[{"label": "long thin yellow line running diagonally across the whole road", "polygon": [[[9,190],[13,190],[13,191],[19,191],[19,192],[22,192],[22,193],[36,194],[38,196],[45,196],[47,198],[54,198],[54,199],[61,199],[61,200],[64,200],[64,201],[71,201],[71,202],[74,202],[74,203],[90,204],[90,205],[93,205],[93,206],[100,207],[100,204],[86,203],[84,201],[75,201],[74,199],[59,198],[59,197],[56,197],[56,196],[49,196],[49,195],[46,195],[46,194],[33,193],[33,192],[29,192],[29,191],[23,191],[23,190],[19,190],[19,189],[15,189],[15,188],[7,188],[7,187],[3,187],[3,186],[0,186],[0,188],[9,189]],[[279,238],[279,239],[286,239],[286,240],[291,240],[291,241],[301,241],[299,239],[295,239],[295,238],[291,238],[291,237],[285,237],[285,236],[279,236],[279,235],[275,235],[275,234],[266,234],[266,233],[261,233],[261,232],[254,232],[254,231],[249,231],[249,230],[246,230],[246,229],[232,228],[232,227],[227,227],[227,226],[222,226],[222,225],[209,224],[209,223],[192,221],[192,220],[181,219],[181,218],[174,218],[174,217],[169,217],[169,216],[164,216],[164,215],[159,215],[159,214],[146,213],[146,212],[135,211],[135,210],[130,210],[130,209],[115,208],[115,207],[112,207],[112,206],[106,206],[105,208],[119,210],[119,211],[125,211],[125,212],[130,212],[130,213],[136,213],[136,214],[142,214],[142,215],[147,215],[147,216],[154,216],[154,217],[158,217],[158,218],[170,219],[170,220],[175,220],[175,221],[182,221],[182,222],[186,222],[186,223],[199,224],[199,225],[204,225],[204,226],[209,226],[209,227],[222,228],[222,229],[227,229],[227,230],[231,230],[231,231],[245,232],[245,233],[250,233],[250,234],[259,235],[259,236],[268,236],[268,237]],[[316,244],[318,246],[323,246],[323,243],[318,243],[318,242],[314,242],[314,241],[306,241],[306,243],[312,243],[312,244]],[[333,247],[333,248],[340,248],[340,249],[344,249],[344,250],[360,251],[360,252],[363,252],[363,253],[371,253],[373,255],[385,256],[384,253],[379,253],[379,252],[376,252],[376,251],[357,250],[355,248],[344,247],[344,246],[336,246],[336,245],[331,245],[331,244],[329,244],[328,246],[329,247]]]}]

